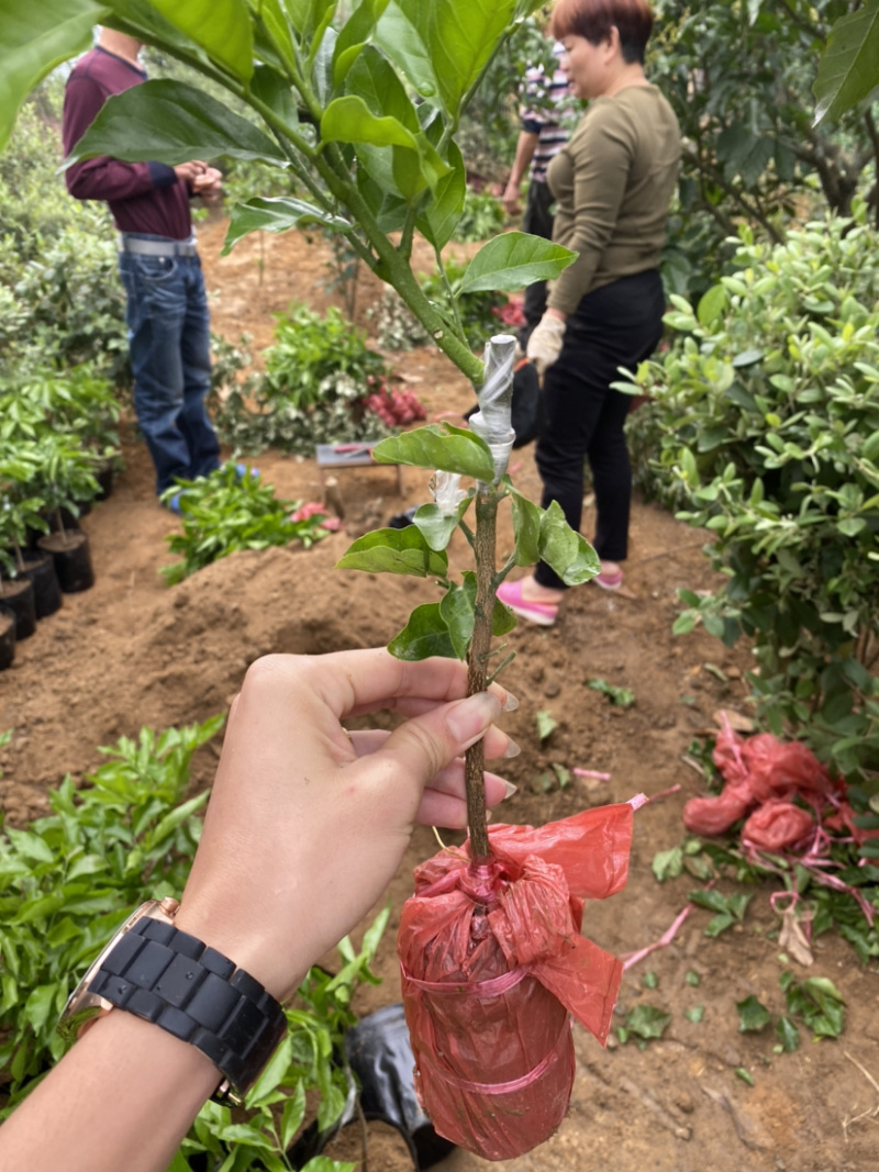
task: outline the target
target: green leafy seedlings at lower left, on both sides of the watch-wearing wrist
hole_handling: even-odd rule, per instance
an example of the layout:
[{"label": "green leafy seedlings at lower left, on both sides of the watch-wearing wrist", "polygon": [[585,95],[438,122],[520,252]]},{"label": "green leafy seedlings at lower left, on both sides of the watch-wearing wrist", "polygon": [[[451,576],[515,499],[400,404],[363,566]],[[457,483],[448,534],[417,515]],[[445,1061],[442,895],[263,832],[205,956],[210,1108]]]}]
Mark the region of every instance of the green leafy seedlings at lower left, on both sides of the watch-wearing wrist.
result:
[{"label": "green leafy seedlings at lower left, on both sides of the watch-wearing wrist", "polygon": [[[48,817],[26,830],[0,829],[0,1070],[8,1077],[0,1122],[67,1048],[55,1023],[108,939],[144,900],[183,891],[209,797],[186,797],[190,762],[223,722],[122,737],[100,750],[108,759],[82,790],[67,777],[49,796]],[[359,984],[379,983],[369,963],[388,915],[380,913],[360,952],[342,940],[338,974],[309,970],[285,1007],[288,1034],[244,1110],[233,1119],[229,1108],[205,1104],[171,1172],[284,1172],[284,1152],[304,1122],[316,1118],[323,1131],[339,1119],[350,1086],[339,1061],[356,1023],[350,1004]],[[350,1167],[319,1164],[322,1172]]]}]

